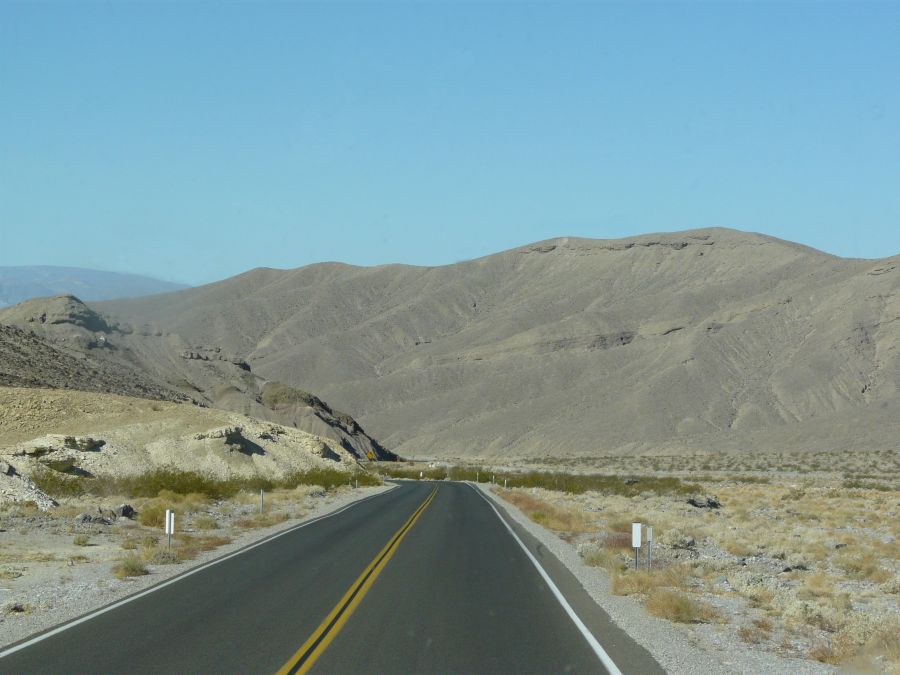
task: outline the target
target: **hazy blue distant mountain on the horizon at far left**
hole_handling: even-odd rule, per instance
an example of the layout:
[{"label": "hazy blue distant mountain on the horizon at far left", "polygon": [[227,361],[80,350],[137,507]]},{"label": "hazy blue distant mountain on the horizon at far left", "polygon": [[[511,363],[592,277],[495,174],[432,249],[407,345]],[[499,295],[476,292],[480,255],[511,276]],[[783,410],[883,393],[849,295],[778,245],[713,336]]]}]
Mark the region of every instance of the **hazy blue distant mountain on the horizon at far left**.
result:
[{"label": "hazy blue distant mountain on the horizon at far left", "polygon": [[86,301],[136,298],[169,293],[187,286],[137,274],[80,267],[37,265],[0,267],[0,307],[46,295],[75,295]]}]

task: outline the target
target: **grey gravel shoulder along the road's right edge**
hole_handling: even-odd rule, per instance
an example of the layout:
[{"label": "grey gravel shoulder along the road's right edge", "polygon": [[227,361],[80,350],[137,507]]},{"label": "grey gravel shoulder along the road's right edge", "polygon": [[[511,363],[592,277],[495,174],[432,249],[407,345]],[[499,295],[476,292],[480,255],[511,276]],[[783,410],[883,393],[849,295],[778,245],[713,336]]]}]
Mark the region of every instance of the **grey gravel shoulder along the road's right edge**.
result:
[{"label": "grey gravel shoulder along the road's right edge", "polygon": [[585,565],[575,548],[531,521],[519,509],[500,499],[490,485],[478,485],[498,507],[544,544],[581,582],[594,601],[638,644],[649,651],[672,675],[818,675],[835,668],[806,659],[792,659],[759,650],[718,632],[714,625],[696,627],[671,623],[648,615],[634,600],[614,595],[609,577],[597,567]]}]

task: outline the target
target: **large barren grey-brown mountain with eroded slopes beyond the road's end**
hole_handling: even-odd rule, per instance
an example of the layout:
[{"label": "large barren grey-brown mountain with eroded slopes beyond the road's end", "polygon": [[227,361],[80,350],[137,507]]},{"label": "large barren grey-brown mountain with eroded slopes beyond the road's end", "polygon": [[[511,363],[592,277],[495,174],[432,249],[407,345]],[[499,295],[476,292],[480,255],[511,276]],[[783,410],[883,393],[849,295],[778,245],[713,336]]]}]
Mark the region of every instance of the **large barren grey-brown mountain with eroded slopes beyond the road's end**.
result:
[{"label": "large barren grey-brown mountain with eroded slopes beyond the road's end", "polygon": [[303,386],[401,455],[896,447],[900,257],[714,229],[98,303]]}]

